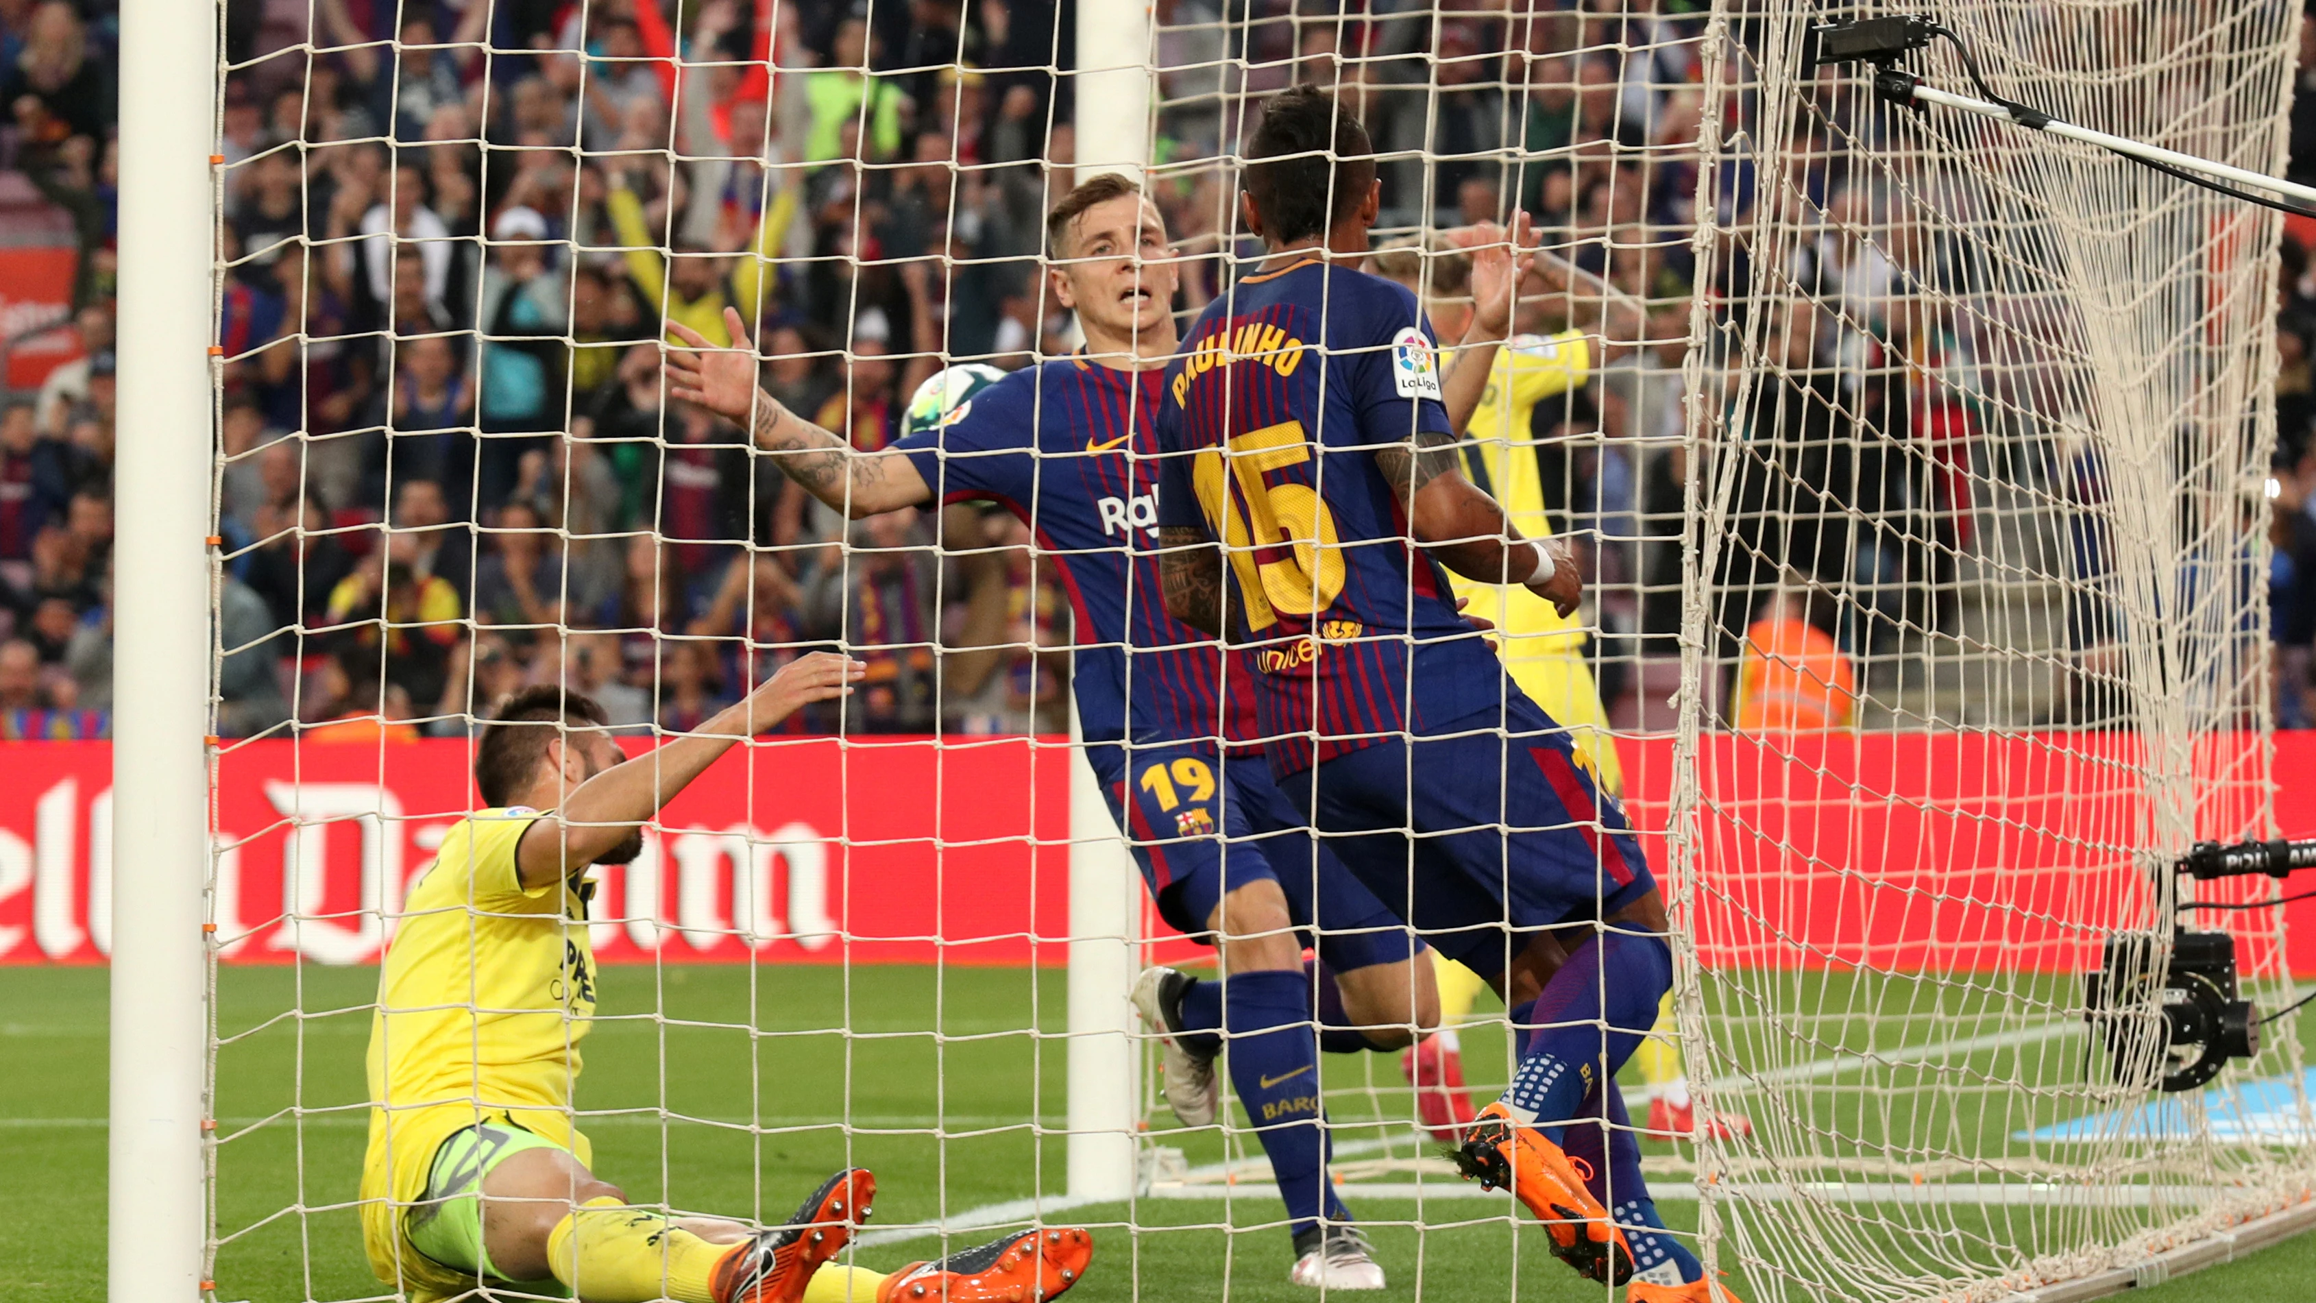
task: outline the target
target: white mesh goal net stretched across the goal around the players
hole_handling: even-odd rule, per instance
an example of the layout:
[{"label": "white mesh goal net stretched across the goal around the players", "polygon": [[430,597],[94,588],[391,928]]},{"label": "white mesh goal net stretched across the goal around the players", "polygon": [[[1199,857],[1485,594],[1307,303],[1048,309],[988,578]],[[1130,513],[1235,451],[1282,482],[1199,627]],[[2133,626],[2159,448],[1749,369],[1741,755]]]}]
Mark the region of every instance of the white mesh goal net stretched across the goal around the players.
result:
[{"label": "white mesh goal net stretched across the goal around the players", "polygon": [[[1292,1289],[1258,1120],[1225,1095],[1181,1125],[1128,1004],[1144,965],[1214,951],[1144,896],[1072,708],[1072,664],[1144,664],[1084,592],[1156,542],[1144,444],[1077,505],[1098,544],[1058,532],[1079,458],[1042,407],[1021,493],[945,493],[987,484],[952,451],[924,502],[855,521],[762,442],[769,407],[679,398],[667,354],[674,326],[753,349],[764,403],[859,454],[961,421],[1082,343],[1045,215],[1112,167],[1165,218],[1186,326],[1260,255],[1244,141],[1302,81],[1369,125],[1371,268],[1436,315],[1468,310],[1482,222],[1529,213],[1575,266],[1512,322],[1549,382],[1492,391],[1461,456],[1589,576],[1575,620],[1496,618],[1498,643],[1672,905],[1677,993],[1626,1072],[1668,1234],[1749,1301],[1994,1298],[2304,1199],[2291,1021],[2159,1095],[2172,1062],[2131,1028],[2168,942],[2124,944],[2108,1023],[2082,984],[2198,898],[2168,868],[2191,842],[2270,831],[2274,218],[1804,76],[1804,23],[1839,16],[234,9],[215,1296],[426,1284],[364,1250],[401,1215],[364,1194],[364,1044],[422,873],[489,798],[498,701],[586,694],[644,754],[813,650],[866,662],[857,692],[725,754],[563,923],[549,1039],[577,1072],[584,1037],[558,1109],[591,1169],[642,1210],[776,1224],[868,1166],[843,1261],[871,1271],[1089,1227],[1089,1296]],[[1941,16],[2006,95],[2281,155],[2274,7]],[[475,947],[503,912],[475,905]],[[2235,935],[2260,1009],[2293,998],[2270,912],[2193,919]],[[1577,1296],[1545,1231],[1438,1157],[1443,1046],[1475,1104],[1515,1065],[1503,1002],[1441,981],[1452,1037],[1322,1055],[1334,1185],[1394,1287]],[[477,1062],[521,1016],[479,986],[428,1009],[470,1021]]]}]

